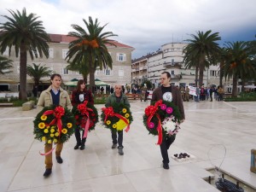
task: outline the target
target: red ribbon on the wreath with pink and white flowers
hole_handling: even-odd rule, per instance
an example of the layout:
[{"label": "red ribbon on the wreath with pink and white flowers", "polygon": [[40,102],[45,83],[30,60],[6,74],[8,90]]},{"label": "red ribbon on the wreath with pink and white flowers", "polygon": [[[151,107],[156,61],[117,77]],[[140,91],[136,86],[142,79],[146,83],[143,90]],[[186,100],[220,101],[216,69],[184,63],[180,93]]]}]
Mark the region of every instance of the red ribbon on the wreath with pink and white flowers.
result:
[{"label": "red ribbon on the wreath with pink and white flowers", "polygon": [[151,119],[154,117],[154,114],[158,120],[158,125],[157,125],[157,131],[158,131],[158,141],[156,144],[160,145],[163,141],[163,133],[162,133],[162,126],[161,126],[161,121],[160,121],[160,116],[157,112],[158,107],[162,104],[162,100],[155,102],[154,106],[150,105],[148,108],[145,109],[145,114],[148,116],[147,124],[149,125]]}]

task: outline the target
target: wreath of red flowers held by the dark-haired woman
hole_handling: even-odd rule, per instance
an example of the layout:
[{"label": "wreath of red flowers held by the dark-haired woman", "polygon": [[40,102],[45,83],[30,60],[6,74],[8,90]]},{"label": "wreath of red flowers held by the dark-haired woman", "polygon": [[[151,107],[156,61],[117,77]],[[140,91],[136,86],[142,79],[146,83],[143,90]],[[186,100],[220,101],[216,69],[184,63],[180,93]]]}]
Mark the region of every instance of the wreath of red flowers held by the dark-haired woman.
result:
[{"label": "wreath of red flowers held by the dark-haired woman", "polygon": [[97,109],[88,101],[84,101],[73,106],[72,113],[76,119],[76,125],[79,125],[79,128],[84,131],[83,137],[87,137],[87,132],[94,130],[99,121]]}]

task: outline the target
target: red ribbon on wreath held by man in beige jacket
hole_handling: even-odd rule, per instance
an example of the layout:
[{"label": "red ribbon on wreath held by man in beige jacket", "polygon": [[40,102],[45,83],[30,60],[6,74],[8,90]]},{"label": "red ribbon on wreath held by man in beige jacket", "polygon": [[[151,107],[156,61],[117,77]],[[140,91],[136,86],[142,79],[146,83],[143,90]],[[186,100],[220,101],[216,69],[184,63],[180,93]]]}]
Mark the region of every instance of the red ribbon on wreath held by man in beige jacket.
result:
[{"label": "red ribbon on wreath held by man in beige jacket", "polygon": [[[56,107],[54,110],[47,110],[43,113],[43,115],[49,115],[49,114],[54,114],[55,119],[53,119],[49,125],[46,124],[46,126],[50,126],[50,125],[54,125],[56,123],[57,127],[58,127],[58,131],[59,131],[59,137],[61,137],[61,130],[62,130],[62,121],[61,121],[61,117],[65,114],[65,109],[61,106]],[[56,146],[55,146],[56,147]],[[43,154],[40,153],[41,155],[47,155],[53,152],[55,148],[52,148],[51,150],[49,150],[47,153]]]}]

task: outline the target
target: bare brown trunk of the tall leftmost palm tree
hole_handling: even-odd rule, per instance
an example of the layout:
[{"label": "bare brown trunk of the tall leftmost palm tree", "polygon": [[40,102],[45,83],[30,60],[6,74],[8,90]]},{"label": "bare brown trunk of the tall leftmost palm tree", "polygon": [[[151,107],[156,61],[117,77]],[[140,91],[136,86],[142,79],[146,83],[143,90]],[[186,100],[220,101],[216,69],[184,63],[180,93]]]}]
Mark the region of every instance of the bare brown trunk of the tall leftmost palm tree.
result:
[{"label": "bare brown trunk of the tall leftmost palm tree", "polygon": [[22,101],[27,100],[26,94],[26,47],[25,44],[20,45],[20,92],[19,98]]}]

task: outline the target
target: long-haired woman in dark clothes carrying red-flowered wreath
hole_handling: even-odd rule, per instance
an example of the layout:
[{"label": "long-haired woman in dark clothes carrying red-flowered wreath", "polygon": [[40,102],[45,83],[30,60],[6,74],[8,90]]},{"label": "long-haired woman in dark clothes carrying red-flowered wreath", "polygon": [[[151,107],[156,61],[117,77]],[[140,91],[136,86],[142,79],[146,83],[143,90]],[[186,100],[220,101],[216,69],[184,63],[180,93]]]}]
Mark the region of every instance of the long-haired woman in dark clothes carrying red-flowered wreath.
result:
[{"label": "long-haired woman in dark clothes carrying red-flowered wreath", "polygon": [[[90,104],[94,104],[93,96],[90,90],[85,89],[85,82],[83,79],[80,79],[77,84],[77,89],[73,90],[71,96],[71,102],[73,106],[77,106],[84,101],[89,102]],[[82,133],[82,137],[84,135],[84,131]],[[86,137],[81,139],[79,126],[75,129],[75,137],[77,140],[77,144],[73,149],[78,149],[80,147],[81,150],[85,148]]]}]

